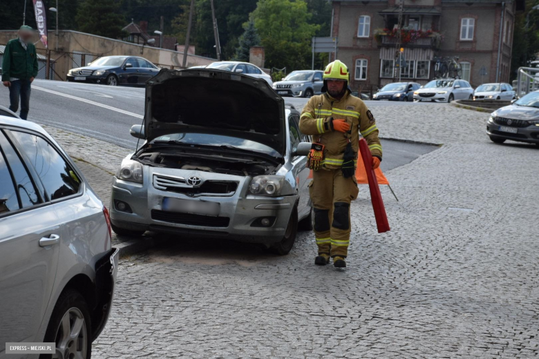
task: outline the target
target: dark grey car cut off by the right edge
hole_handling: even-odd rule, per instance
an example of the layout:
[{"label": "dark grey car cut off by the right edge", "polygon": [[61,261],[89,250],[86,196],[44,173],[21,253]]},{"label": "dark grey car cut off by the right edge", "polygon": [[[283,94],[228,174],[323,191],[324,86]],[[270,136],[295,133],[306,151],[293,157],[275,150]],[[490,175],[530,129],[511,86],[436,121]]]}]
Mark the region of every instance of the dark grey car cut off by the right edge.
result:
[{"label": "dark grey car cut off by the right edge", "polygon": [[495,110],[486,122],[486,134],[497,144],[512,139],[539,146],[539,91]]}]

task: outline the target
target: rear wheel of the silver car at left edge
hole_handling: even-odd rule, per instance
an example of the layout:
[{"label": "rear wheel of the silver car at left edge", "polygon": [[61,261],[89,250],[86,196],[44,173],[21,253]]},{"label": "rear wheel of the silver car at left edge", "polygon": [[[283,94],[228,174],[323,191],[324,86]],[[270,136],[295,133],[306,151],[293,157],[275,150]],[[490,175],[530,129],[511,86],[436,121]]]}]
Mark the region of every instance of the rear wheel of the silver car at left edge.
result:
[{"label": "rear wheel of the silver car at left edge", "polygon": [[[56,343],[57,353],[62,353],[59,358],[89,359],[92,356],[91,324],[84,297],[74,289],[66,289],[56,302],[43,341]],[[66,328],[69,333],[65,332]],[[71,337],[75,335],[76,339],[73,340]],[[69,338],[66,340],[67,336]],[[50,358],[53,358],[52,354],[39,356],[39,359]]]}]

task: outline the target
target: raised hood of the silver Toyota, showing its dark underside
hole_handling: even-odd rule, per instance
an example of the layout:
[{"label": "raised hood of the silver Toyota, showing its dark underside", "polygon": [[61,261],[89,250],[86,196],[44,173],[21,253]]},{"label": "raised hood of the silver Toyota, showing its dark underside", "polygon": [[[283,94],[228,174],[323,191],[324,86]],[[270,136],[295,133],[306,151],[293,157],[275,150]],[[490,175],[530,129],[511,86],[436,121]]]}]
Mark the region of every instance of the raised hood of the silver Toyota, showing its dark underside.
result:
[{"label": "raised hood of the silver Toyota, showing its dark underside", "polygon": [[144,133],[209,133],[286,151],[285,103],[264,79],[211,68],[162,69],[146,82]]}]

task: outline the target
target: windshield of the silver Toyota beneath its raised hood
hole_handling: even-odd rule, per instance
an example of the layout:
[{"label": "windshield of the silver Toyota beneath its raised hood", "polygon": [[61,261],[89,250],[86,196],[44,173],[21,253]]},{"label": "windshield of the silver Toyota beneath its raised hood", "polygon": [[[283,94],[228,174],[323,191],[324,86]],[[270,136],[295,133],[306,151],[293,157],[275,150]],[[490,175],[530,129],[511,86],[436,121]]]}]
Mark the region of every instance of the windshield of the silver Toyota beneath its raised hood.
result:
[{"label": "windshield of the silver Toyota beneath its raised hood", "polygon": [[270,155],[272,157],[281,157],[277,151],[269,146],[266,146],[265,144],[250,141],[249,139],[223,135],[208,135],[206,133],[173,133],[171,135],[157,137],[151,143],[154,144],[169,141],[181,142],[182,144],[202,144],[205,146],[216,147],[232,146],[242,150],[265,153],[266,155]]}]

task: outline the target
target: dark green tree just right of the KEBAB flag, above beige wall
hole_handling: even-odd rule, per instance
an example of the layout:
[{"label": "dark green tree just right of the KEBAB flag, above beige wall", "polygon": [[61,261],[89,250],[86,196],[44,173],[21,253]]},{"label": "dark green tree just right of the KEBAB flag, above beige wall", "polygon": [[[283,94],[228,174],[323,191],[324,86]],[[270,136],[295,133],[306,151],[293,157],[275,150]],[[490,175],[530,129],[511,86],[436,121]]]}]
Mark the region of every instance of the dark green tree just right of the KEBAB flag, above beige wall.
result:
[{"label": "dark green tree just right of the KEBAB flag, above beige wall", "polygon": [[88,34],[120,39],[125,36],[122,28],[126,19],[120,12],[120,2],[115,0],[83,0],[77,10],[79,30]]}]

